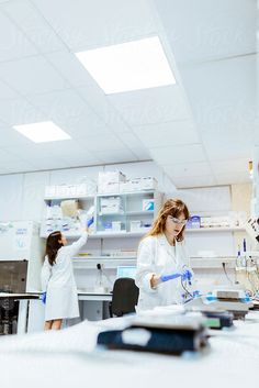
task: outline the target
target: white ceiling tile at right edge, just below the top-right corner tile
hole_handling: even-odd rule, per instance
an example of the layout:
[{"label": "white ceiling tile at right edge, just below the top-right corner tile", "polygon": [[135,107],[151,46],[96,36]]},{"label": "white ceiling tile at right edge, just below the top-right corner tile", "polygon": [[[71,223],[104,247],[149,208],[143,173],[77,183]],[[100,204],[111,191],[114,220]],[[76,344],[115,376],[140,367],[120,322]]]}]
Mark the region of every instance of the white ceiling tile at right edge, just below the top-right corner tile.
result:
[{"label": "white ceiling tile at right edge, just below the top-right corner tile", "polygon": [[207,125],[256,120],[256,55],[182,67],[181,74],[194,119]]}]

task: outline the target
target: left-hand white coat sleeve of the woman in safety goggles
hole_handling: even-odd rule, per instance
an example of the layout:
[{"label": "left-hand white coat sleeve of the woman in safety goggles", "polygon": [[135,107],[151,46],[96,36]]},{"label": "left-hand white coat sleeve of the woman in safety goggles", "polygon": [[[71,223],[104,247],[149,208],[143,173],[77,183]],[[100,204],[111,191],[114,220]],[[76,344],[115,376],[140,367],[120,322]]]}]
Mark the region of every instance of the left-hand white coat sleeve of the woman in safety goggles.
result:
[{"label": "left-hand white coat sleeve of the woman in safety goggles", "polygon": [[138,288],[142,288],[148,292],[157,292],[157,289],[151,288],[150,285],[153,275],[156,275],[156,271],[154,270],[155,252],[153,243],[153,240],[144,239],[140,242],[137,252],[137,271],[135,282]]}]

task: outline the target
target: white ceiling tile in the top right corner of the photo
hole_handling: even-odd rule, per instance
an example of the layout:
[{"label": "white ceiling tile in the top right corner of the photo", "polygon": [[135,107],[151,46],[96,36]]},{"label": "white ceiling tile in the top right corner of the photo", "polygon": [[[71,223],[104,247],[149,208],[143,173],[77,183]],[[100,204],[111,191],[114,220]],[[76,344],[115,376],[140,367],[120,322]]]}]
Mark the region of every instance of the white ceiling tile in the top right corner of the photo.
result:
[{"label": "white ceiling tile in the top right corner of the photo", "polygon": [[[254,0],[155,0],[178,62],[235,56],[256,49]],[[187,11],[188,7],[188,11]]]}]

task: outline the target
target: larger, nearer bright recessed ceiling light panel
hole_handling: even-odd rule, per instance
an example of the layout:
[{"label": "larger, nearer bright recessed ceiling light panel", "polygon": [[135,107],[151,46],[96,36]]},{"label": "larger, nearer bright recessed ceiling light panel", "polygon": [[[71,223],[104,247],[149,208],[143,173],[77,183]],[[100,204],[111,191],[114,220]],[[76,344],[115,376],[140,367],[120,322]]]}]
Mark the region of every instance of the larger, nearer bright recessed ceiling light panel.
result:
[{"label": "larger, nearer bright recessed ceiling light panel", "polygon": [[108,95],[176,84],[158,36],[76,56]]}]

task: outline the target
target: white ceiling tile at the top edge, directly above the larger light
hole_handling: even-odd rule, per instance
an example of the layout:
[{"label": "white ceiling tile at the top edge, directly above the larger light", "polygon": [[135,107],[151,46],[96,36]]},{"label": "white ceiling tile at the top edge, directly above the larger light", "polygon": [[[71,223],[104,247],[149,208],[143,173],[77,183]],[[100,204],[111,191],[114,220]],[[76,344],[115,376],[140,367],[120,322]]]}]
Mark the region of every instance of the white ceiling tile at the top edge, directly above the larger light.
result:
[{"label": "white ceiling tile at the top edge, directly above the larger light", "polygon": [[147,0],[33,0],[33,3],[75,51],[122,43],[157,31]]}]

